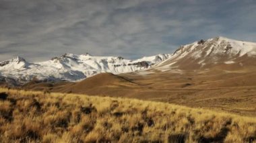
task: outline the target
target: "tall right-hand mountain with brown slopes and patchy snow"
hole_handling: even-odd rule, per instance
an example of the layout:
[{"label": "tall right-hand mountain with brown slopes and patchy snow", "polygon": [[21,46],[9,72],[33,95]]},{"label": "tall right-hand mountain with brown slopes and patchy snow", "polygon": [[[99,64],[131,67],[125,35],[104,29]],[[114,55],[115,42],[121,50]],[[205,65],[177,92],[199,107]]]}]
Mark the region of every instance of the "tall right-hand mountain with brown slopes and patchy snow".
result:
[{"label": "tall right-hand mountain with brown slopes and patchy snow", "polygon": [[224,37],[199,40],[178,48],[170,58],[154,68],[197,69],[220,64],[251,64],[256,58],[256,43],[231,40]]}]

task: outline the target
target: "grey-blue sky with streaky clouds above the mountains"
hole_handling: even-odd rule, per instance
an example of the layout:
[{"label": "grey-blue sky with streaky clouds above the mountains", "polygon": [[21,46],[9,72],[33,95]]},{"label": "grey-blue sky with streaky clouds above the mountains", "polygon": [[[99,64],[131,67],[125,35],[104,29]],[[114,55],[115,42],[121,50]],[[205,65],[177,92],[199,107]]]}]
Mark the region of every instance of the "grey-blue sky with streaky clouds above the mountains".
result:
[{"label": "grey-blue sky with streaky clouds above the mountains", "polygon": [[0,0],[0,61],[135,59],[217,36],[256,42],[256,1]]}]

